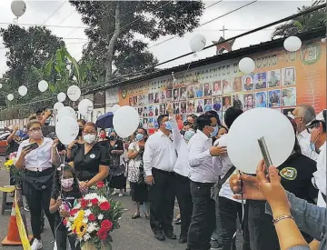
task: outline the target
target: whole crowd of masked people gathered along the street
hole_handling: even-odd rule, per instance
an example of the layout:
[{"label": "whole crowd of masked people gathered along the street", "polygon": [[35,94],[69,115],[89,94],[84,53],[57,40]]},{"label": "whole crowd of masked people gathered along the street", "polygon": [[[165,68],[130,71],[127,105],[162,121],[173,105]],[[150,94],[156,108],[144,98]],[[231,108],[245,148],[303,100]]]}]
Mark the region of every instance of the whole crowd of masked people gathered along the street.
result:
[{"label": "whole crowd of masked people gathered along the street", "polygon": [[[173,106],[166,110],[153,135],[140,125],[124,140],[114,129],[107,132],[78,120],[78,137],[64,146],[45,109],[31,115],[22,130],[13,128],[6,155],[17,152],[15,167],[25,171],[33,250],[43,246],[44,215],[55,249],[65,250],[67,239],[71,249],[80,249],[62,225],[67,216],[63,204],[74,206],[99,181],[119,190],[119,196],[128,181],[135,204],[132,218],[139,218],[144,207],[160,241],[177,239],[177,199],[178,241],[187,250],[236,249],[237,225],[242,225],[243,250],[325,249],[326,110],[316,115],[312,106],[298,105],[292,111],[292,155],[280,166],[269,166],[269,176],[263,174],[263,163],[257,175],[241,175],[228,156],[228,131],[242,109],[229,107],[223,121],[213,110],[188,115],[182,130]],[[15,185],[12,177],[10,183]]]}]

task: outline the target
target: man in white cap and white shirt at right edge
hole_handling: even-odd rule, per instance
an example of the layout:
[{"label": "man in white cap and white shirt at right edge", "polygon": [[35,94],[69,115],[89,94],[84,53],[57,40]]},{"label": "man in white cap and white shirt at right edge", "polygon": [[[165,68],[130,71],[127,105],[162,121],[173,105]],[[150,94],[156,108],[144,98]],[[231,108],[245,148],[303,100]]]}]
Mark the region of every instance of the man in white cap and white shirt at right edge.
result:
[{"label": "man in white cap and white shirt at right edge", "polygon": [[317,205],[326,207],[326,110],[322,110],[310,124],[312,150],[319,152],[317,171],[313,173],[312,183],[319,189]]}]

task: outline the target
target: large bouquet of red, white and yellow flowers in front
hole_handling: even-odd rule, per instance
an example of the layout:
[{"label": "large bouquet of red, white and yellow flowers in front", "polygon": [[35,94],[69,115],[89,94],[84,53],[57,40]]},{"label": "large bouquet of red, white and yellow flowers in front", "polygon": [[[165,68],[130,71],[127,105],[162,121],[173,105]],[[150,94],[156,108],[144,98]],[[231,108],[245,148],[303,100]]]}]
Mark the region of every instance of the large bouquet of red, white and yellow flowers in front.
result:
[{"label": "large bouquet of red, white and yellow flowers in front", "polygon": [[95,193],[84,195],[64,219],[64,225],[77,235],[82,249],[111,249],[110,233],[119,228],[124,209],[121,203],[107,199],[106,194],[104,183],[98,183]]}]

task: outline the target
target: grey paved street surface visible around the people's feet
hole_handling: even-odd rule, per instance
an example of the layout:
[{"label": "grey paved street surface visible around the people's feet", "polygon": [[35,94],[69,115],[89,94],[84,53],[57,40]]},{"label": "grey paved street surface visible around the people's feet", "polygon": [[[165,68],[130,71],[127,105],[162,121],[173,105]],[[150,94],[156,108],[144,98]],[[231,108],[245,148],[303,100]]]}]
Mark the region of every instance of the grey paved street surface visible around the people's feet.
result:
[{"label": "grey paved street surface visible around the people's feet", "polygon": [[[0,157],[0,161],[4,158]],[[2,163],[0,163],[2,165]],[[8,184],[9,175],[5,170],[0,170],[0,186]],[[133,203],[131,201],[131,196],[125,195],[124,197],[116,197],[119,199],[125,207],[124,215],[121,219],[121,228],[115,230],[113,233],[114,250],[185,250],[186,245],[178,244],[178,240],[165,240],[164,242],[159,242],[155,240],[154,234],[151,231],[149,221],[144,218],[132,220],[133,215]],[[0,194],[0,200],[2,200],[2,194]],[[10,211],[7,211],[5,215],[0,215],[0,240],[5,238],[7,232],[7,225],[9,220]],[[29,215],[26,213],[28,230],[31,233]],[[179,235],[180,227],[175,226],[175,234]],[[49,225],[45,225],[45,232],[43,236],[43,243],[45,250],[53,249],[53,236]],[[238,247],[239,248],[239,247]],[[10,249],[10,250],[21,250],[22,247],[17,246],[2,246],[0,249]],[[241,248],[239,248],[241,249]]]}]

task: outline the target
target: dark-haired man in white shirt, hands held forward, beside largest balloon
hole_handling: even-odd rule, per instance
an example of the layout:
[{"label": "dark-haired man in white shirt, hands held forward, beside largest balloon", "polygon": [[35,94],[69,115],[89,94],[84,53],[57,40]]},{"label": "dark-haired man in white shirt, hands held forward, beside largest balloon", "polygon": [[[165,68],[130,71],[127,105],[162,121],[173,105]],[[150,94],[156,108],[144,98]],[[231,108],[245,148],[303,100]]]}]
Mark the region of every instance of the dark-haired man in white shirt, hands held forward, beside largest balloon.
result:
[{"label": "dark-haired man in white shirt, hands held forward, beside largest balloon", "polygon": [[210,239],[215,228],[215,206],[211,189],[220,171],[213,165],[213,156],[226,154],[225,147],[213,146],[218,133],[214,115],[200,115],[196,120],[198,130],[188,144],[188,162],[191,166],[191,194],[193,215],[187,237],[187,249],[210,249]]}]

